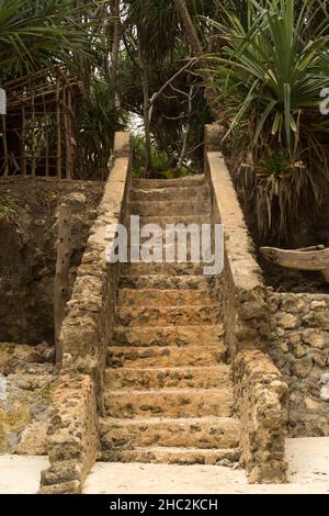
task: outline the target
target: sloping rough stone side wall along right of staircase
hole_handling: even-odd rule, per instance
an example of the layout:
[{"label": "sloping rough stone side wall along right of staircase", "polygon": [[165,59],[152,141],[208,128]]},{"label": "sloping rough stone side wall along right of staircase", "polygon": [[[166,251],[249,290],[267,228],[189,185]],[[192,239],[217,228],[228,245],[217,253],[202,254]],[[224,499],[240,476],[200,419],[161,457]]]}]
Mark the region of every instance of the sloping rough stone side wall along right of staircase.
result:
[{"label": "sloping rough stone side wall along right of staircase", "polygon": [[250,482],[285,482],[287,385],[268,350],[266,290],[253,258],[243,214],[225,165],[220,130],[206,127],[206,177],[213,221],[224,224],[225,269],[219,280],[228,356],[232,362],[240,448]]}]

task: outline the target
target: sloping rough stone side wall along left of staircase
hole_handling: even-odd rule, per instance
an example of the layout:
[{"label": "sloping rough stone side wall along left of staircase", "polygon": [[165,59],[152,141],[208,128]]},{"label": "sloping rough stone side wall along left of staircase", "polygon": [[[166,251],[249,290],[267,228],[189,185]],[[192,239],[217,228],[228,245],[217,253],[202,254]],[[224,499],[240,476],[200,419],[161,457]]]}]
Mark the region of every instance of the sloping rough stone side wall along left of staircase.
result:
[{"label": "sloping rough stone side wall along left of staircase", "polygon": [[50,468],[42,473],[41,493],[80,493],[98,449],[106,347],[114,328],[118,265],[106,261],[105,226],[125,218],[131,188],[132,144],[115,136],[115,164],[105,186],[63,323],[61,373],[48,414]]}]

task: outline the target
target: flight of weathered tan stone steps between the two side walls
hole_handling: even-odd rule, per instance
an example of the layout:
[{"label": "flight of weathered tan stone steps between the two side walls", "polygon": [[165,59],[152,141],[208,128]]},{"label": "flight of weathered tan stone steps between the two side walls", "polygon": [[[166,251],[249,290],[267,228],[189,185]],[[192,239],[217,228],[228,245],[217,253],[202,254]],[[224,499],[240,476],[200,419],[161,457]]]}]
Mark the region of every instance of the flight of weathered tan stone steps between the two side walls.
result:
[{"label": "flight of weathered tan stone steps between the two side walls", "polygon": [[[135,180],[141,224],[207,223],[203,176]],[[239,459],[224,329],[212,278],[196,263],[122,266],[107,352],[102,460],[216,464]]]}]

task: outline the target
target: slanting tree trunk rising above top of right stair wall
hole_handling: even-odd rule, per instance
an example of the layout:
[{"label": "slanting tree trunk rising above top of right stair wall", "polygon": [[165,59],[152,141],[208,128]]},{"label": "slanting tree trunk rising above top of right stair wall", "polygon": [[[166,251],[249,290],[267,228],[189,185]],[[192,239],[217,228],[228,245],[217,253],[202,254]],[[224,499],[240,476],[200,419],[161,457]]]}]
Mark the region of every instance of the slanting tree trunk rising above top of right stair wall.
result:
[{"label": "slanting tree trunk rising above top of right stair wall", "polygon": [[[192,19],[190,16],[186,2],[185,0],[174,0],[175,8],[178,12],[180,13],[182,23],[185,27],[188,37],[190,40],[190,44],[192,46],[193,53],[195,54],[195,57],[198,58],[200,65],[201,65],[201,74],[203,76],[204,82],[205,82],[205,98],[206,101],[209,105],[212,115],[215,119],[218,119],[219,116],[219,110],[218,110],[218,104],[217,104],[217,96],[214,87],[214,81],[212,74],[207,69],[207,61],[204,58],[204,51],[202,48],[202,44],[198,40],[197,33],[194,29]],[[216,105],[217,104],[217,105]]]}]

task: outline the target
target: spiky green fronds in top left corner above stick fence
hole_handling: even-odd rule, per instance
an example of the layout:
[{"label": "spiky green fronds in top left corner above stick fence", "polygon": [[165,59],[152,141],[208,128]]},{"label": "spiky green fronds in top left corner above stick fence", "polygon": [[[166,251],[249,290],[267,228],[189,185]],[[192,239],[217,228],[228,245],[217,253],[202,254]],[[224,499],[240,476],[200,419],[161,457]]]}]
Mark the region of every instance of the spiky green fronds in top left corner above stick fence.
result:
[{"label": "spiky green fronds in top left corner above stick fence", "polygon": [[68,60],[78,68],[88,36],[75,0],[0,0],[1,78]]}]

